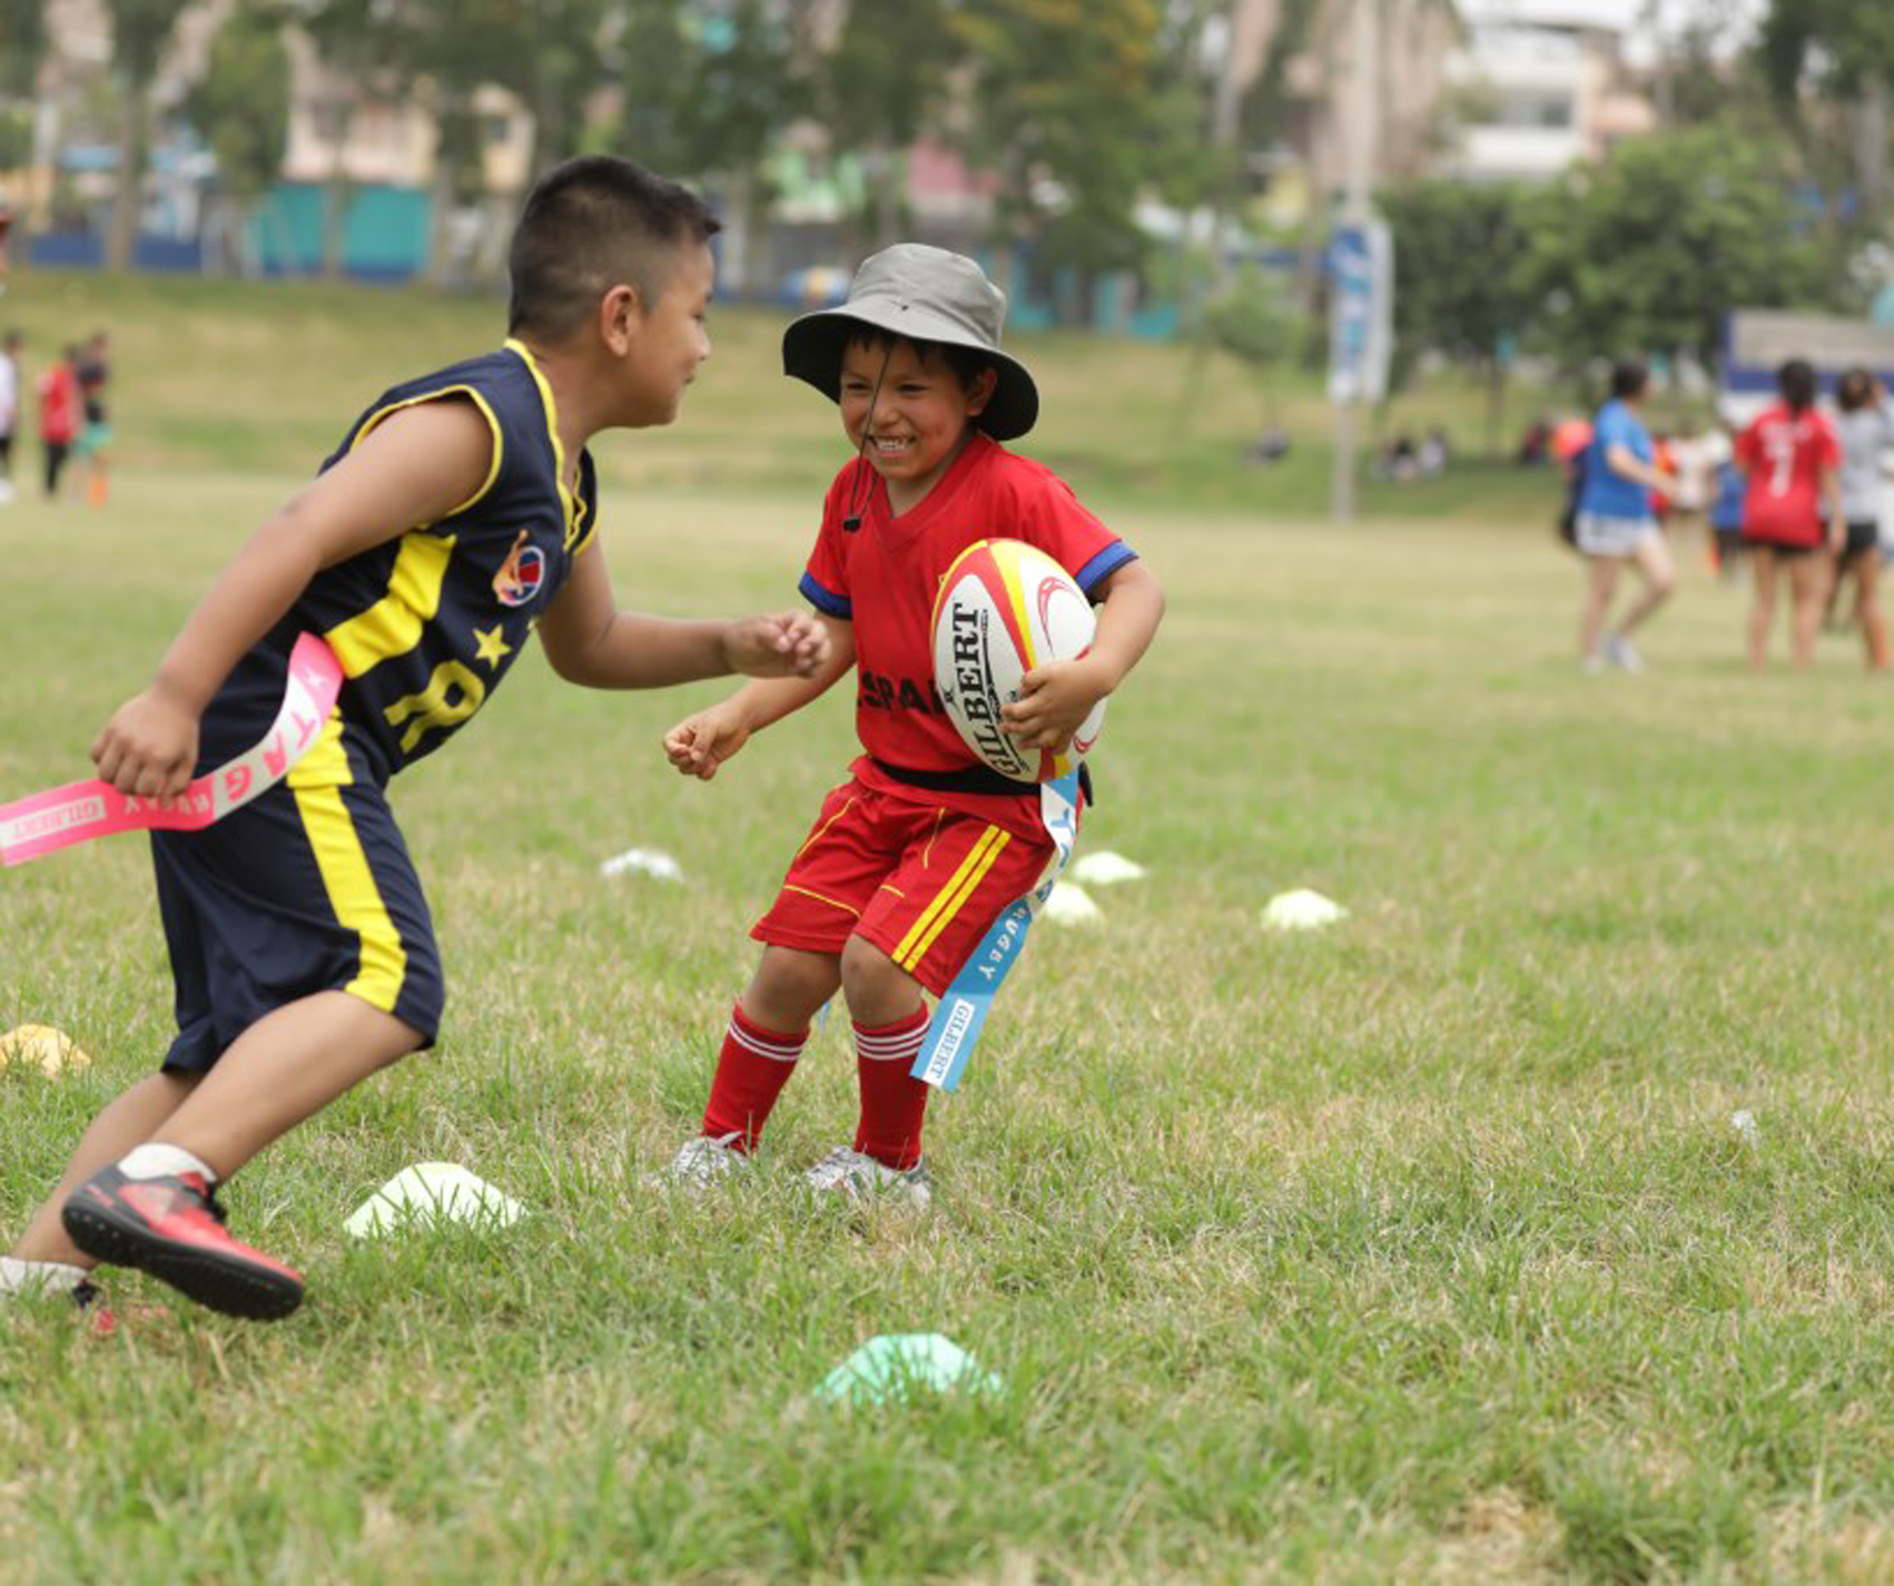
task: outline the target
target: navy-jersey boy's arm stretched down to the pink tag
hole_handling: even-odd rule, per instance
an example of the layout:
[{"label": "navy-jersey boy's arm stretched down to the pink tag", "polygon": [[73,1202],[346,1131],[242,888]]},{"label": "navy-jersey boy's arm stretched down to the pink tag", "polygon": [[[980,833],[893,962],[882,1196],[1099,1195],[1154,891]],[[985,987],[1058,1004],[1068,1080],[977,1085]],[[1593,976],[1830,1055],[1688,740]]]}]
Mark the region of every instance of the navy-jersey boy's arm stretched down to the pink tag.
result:
[{"label": "navy-jersey boy's arm stretched down to the pink tag", "polygon": [[492,432],[468,402],[392,413],[333,468],[278,508],[186,618],[150,686],[93,741],[98,775],[119,792],[184,792],[197,762],[197,722],[239,658],[295,604],[326,567],[447,517],[475,496]]}]

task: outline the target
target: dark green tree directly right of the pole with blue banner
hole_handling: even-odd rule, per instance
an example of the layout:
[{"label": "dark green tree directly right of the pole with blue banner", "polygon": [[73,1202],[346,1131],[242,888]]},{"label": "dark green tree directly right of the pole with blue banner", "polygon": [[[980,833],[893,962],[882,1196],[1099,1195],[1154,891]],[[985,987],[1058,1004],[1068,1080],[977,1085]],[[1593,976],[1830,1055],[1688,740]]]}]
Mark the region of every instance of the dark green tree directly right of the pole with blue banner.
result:
[{"label": "dark green tree directly right of the pole with blue banner", "polygon": [[1394,369],[1403,385],[1424,352],[1439,352],[1487,383],[1487,449],[1506,426],[1506,377],[1521,332],[1536,318],[1534,193],[1525,188],[1426,180],[1381,193],[1394,231]]}]

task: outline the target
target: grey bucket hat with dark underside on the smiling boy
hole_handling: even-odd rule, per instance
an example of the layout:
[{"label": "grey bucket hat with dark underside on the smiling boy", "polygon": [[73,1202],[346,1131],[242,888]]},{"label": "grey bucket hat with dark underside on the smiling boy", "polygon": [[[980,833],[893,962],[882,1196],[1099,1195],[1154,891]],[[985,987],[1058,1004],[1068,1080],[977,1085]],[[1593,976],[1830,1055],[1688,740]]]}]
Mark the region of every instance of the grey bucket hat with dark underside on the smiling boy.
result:
[{"label": "grey bucket hat with dark underside on the smiling boy", "polygon": [[807,381],[830,402],[841,394],[841,354],[860,326],[911,341],[972,347],[992,360],[998,385],[974,421],[994,440],[1011,440],[1040,417],[1040,388],[1027,366],[1000,351],[1006,294],[964,254],[926,243],[896,243],[862,260],[849,301],[792,320],[782,332],[782,373]]}]

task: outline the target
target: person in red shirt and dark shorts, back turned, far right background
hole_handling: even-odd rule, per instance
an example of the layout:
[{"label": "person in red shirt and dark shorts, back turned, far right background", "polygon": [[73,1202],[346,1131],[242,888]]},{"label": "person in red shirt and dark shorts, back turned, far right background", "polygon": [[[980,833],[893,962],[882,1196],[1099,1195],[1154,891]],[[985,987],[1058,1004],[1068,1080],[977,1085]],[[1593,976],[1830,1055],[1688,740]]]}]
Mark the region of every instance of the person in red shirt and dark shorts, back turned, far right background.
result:
[{"label": "person in red shirt and dark shorts, back turned, far right background", "polygon": [[1775,620],[1777,568],[1788,570],[1794,601],[1792,654],[1797,667],[1814,659],[1822,627],[1828,555],[1833,525],[1835,550],[1847,540],[1835,470],[1841,443],[1814,411],[1814,366],[1792,358],[1777,371],[1782,400],[1765,407],[1737,436],[1737,466],[1748,476],[1742,495],[1742,544],[1756,565],[1756,604],[1750,608],[1750,665],[1769,665],[1769,625]]}]

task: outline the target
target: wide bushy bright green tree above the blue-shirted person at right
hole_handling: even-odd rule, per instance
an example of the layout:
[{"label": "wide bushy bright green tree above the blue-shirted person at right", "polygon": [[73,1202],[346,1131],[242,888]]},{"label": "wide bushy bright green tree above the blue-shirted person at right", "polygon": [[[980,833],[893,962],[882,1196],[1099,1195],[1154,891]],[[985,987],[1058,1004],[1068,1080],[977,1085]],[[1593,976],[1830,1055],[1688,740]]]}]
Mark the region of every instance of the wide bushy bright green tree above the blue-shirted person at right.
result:
[{"label": "wide bushy bright green tree above the blue-shirted person at right", "polygon": [[[1831,286],[1778,142],[1699,127],[1619,144],[1528,208],[1528,345],[1566,369],[1623,349],[1714,368],[1724,315],[1818,307]],[[1466,263],[1472,269],[1472,263]]]}]

